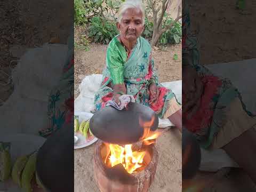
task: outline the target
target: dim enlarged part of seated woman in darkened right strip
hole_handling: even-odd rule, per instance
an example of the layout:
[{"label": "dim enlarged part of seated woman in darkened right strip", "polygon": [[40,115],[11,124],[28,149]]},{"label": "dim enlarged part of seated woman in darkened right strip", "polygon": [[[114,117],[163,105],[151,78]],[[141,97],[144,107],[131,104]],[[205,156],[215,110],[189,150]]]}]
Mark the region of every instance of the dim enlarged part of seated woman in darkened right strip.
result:
[{"label": "dim enlarged part of seated woman in darkened right strip", "polygon": [[[185,1],[186,2],[186,1]],[[188,5],[183,6],[183,125],[202,148],[222,148],[256,183],[256,118],[228,79],[199,64],[196,38],[190,34]]]}]

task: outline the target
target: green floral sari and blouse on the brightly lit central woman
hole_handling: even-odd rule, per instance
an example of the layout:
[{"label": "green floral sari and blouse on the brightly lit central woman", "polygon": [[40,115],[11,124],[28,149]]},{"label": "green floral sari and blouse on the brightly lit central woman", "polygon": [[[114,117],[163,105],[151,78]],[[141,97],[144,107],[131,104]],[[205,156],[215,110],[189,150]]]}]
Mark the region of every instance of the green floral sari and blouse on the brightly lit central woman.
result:
[{"label": "green floral sari and blouse on the brightly lit central woman", "polygon": [[[175,105],[177,100],[174,93],[158,82],[151,46],[146,39],[139,37],[132,53],[127,55],[117,37],[118,35],[108,45],[101,87],[95,94],[95,110],[102,109],[113,98],[114,91],[109,85],[125,83],[126,94],[133,95],[136,102],[149,106],[160,118],[170,109],[177,111],[180,105]],[[151,82],[155,82],[159,90],[158,100],[153,105],[149,104]]]}]

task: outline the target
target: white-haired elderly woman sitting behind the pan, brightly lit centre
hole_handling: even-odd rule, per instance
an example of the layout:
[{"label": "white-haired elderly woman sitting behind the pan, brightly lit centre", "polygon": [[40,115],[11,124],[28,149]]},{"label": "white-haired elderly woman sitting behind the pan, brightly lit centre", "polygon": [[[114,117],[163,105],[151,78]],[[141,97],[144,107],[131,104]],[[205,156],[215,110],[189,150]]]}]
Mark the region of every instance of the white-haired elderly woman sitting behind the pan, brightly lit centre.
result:
[{"label": "white-haired elderly woman sitting behind the pan, brightly lit centre", "polygon": [[145,10],[139,1],[126,1],[119,9],[120,32],[108,45],[106,68],[100,90],[95,94],[95,110],[122,94],[149,106],[158,117],[169,118],[181,130],[181,105],[174,93],[158,82],[150,44],[141,37]]}]

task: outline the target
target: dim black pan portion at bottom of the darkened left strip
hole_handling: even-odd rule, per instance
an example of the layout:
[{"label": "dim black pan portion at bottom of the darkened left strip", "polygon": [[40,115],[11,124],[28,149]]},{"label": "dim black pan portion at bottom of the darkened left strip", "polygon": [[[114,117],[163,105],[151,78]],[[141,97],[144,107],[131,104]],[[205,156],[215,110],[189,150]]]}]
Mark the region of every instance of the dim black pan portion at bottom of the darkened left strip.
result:
[{"label": "dim black pan portion at bottom of the darkened left strip", "polygon": [[74,122],[52,133],[38,150],[36,173],[47,191],[74,190]]}]

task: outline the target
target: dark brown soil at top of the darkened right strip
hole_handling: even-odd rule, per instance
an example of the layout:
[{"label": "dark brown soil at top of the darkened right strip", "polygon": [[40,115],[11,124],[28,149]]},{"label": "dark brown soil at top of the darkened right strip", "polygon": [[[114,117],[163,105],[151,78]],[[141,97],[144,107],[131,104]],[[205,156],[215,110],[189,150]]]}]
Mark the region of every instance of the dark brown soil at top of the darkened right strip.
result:
[{"label": "dark brown soil at top of the darkened right strip", "polygon": [[[256,58],[256,3],[245,1],[245,9],[233,1],[189,1],[191,27],[197,34],[201,63],[213,64]],[[215,31],[215,33],[213,32]]]}]

